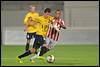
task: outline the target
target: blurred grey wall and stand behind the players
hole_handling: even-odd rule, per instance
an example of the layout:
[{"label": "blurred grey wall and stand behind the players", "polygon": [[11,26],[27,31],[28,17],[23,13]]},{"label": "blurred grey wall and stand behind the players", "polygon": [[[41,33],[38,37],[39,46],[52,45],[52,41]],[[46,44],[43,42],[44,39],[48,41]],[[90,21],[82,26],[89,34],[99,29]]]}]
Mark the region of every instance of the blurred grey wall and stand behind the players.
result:
[{"label": "blurred grey wall and stand behind the players", "polygon": [[1,1],[1,35],[3,45],[25,45],[23,19],[28,6],[35,4],[42,15],[45,8],[60,8],[67,29],[58,44],[99,44],[99,1]]}]

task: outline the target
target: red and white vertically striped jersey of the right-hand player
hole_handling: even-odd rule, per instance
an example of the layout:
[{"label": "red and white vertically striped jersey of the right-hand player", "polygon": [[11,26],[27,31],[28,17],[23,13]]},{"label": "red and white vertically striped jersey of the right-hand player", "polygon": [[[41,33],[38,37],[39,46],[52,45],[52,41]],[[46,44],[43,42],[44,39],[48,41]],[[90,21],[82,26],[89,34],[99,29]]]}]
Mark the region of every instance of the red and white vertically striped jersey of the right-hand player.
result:
[{"label": "red and white vertically striped jersey of the right-hand player", "polygon": [[[53,19],[53,24],[57,25],[57,27],[59,28],[59,30],[61,29],[61,25],[65,25],[64,21],[60,18],[54,18]],[[52,39],[53,41],[58,41],[59,39],[59,32],[56,31],[56,29],[53,27],[53,24],[49,25],[49,29],[47,32],[47,37]]]}]

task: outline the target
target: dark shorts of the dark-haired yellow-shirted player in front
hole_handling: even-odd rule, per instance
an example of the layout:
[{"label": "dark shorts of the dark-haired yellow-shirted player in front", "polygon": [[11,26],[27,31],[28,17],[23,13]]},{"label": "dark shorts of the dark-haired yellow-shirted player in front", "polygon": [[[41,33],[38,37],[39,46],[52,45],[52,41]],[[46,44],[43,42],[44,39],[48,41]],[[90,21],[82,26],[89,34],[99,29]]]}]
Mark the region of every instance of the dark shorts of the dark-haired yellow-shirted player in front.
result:
[{"label": "dark shorts of the dark-haired yellow-shirted player in front", "polygon": [[42,46],[45,43],[45,39],[41,35],[36,35],[35,36],[35,41],[33,44],[33,48],[38,49],[40,46]]}]

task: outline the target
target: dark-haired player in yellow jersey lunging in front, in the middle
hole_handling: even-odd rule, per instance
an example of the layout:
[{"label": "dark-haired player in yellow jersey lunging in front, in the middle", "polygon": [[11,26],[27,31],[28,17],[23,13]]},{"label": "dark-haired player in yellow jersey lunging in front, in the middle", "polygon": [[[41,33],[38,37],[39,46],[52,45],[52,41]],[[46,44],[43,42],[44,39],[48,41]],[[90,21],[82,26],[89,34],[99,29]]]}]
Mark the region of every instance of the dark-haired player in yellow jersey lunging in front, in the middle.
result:
[{"label": "dark-haired player in yellow jersey lunging in front, in the middle", "polygon": [[32,53],[35,53],[36,50],[38,48],[40,48],[40,46],[45,44],[45,37],[46,37],[46,33],[48,31],[48,25],[49,25],[49,22],[51,21],[51,18],[52,18],[50,16],[50,12],[51,12],[51,10],[49,8],[46,8],[44,10],[44,15],[36,18],[36,22],[38,22],[38,25],[37,25],[38,30],[37,30],[36,35],[35,35],[35,41],[33,44],[33,48],[31,50],[27,50],[25,53],[18,56],[17,60],[20,63],[22,62],[21,58],[28,56]]}]

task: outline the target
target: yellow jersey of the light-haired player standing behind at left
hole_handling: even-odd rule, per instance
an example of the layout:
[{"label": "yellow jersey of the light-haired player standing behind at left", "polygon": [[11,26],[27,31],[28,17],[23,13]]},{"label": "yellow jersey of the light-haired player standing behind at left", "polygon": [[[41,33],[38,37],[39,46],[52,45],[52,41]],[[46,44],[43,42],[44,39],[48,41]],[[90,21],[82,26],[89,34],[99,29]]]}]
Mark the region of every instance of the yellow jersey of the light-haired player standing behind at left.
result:
[{"label": "yellow jersey of the light-haired player standing behind at left", "polygon": [[25,18],[24,18],[24,24],[27,25],[27,32],[28,33],[34,33],[37,31],[37,26],[34,25],[34,26],[29,26],[28,25],[28,20],[29,20],[29,17],[32,18],[33,21],[35,21],[36,18],[39,17],[39,14],[38,13],[32,13],[32,12],[29,12],[26,14]]}]

